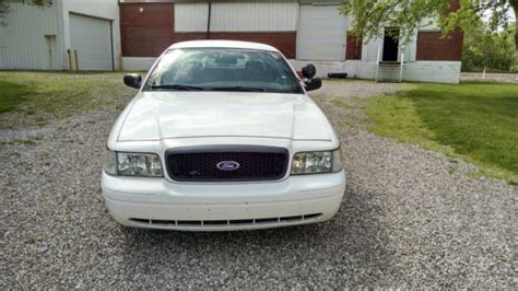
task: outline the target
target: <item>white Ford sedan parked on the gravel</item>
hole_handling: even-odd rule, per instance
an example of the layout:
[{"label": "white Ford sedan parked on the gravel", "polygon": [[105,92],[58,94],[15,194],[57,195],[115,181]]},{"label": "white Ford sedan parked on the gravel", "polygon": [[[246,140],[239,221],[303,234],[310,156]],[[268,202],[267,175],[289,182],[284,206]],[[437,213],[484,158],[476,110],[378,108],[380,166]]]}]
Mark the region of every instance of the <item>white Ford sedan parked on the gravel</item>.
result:
[{"label": "white Ford sedan parked on the gravel", "polygon": [[345,189],[340,141],[275,48],[199,40],[170,46],[120,114],[102,175],[122,225],[186,231],[321,222]]}]

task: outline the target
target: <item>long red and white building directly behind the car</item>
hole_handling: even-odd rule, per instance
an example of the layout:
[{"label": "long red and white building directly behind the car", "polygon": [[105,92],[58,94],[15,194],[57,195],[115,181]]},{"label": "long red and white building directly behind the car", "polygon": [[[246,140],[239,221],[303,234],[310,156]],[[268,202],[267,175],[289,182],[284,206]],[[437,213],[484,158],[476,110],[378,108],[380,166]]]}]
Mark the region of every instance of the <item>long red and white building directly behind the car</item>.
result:
[{"label": "long red and white building directly behind the car", "polygon": [[[319,77],[458,83],[462,38],[440,38],[435,20],[423,21],[407,46],[387,35],[355,42],[351,18],[337,0],[126,0],[120,3],[127,70],[145,70],[170,44],[191,39],[260,42],[280,49],[296,68],[313,62]],[[451,8],[458,0],[450,0]],[[380,27],[381,35],[387,27]],[[156,36],[160,36],[157,38]]]}]

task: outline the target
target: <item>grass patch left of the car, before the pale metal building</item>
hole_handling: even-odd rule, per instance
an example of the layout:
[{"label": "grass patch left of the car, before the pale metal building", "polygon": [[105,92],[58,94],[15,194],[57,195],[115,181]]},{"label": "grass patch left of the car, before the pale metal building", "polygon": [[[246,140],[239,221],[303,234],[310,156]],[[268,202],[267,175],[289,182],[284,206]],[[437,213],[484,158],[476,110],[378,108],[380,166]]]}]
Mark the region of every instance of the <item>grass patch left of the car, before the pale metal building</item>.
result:
[{"label": "grass patch left of the car, before the pale metal building", "polygon": [[122,109],[136,92],[123,85],[122,75],[0,71],[0,128],[44,126],[106,106]]}]

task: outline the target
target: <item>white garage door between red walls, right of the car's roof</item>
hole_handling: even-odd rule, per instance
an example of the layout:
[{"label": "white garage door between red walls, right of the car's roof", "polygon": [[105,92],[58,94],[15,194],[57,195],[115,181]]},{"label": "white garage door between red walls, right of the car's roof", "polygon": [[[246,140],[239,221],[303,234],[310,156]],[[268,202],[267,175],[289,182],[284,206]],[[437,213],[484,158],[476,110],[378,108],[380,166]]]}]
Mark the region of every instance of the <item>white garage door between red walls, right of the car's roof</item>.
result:
[{"label": "white garage door between red walls, right of the car's roof", "polygon": [[297,59],[344,60],[348,20],[338,5],[301,5]]}]

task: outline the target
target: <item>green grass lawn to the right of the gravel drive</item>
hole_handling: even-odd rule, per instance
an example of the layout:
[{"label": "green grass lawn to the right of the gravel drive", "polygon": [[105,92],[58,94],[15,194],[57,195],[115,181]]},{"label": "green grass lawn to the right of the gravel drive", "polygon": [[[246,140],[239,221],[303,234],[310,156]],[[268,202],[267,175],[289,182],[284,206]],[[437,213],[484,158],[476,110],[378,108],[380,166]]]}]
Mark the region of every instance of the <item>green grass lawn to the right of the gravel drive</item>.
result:
[{"label": "green grass lawn to the right of the gravel drive", "polygon": [[518,85],[416,84],[370,98],[369,130],[478,165],[481,174],[518,176]]}]

